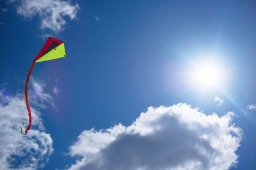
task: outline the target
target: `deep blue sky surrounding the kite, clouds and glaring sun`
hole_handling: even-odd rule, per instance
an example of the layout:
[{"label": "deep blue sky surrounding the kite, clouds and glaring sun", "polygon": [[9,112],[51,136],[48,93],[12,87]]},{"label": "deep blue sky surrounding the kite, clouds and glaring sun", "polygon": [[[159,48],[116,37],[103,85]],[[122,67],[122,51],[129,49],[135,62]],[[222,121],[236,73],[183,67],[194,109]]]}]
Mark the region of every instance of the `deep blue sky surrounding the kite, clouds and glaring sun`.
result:
[{"label": "deep blue sky surrounding the kite, clouds and glaring sun", "polygon": [[[47,4],[49,1],[45,2]],[[65,42],[65,59],[40,62],[32,74],[32,81],[44,89],[42,96],[49,96],[35,98],[32,104],[35,110],[40,111],[41,123],[45,127],[40,132],[51,136],[54,149],[49,154],[49,161],[44,162],[43,169],[66,169],[81,158],[90,158],[89,153],[86,155],[87,151],[85,156],[70,149],[70,146],[80,146],[77,137],[80,136],[82,140],[83,131],[94,128],[93,134],[88,132],[90,136],[119,123],[129,127],[140,117],[141,112],[149,114],[150,106],[168,108],[178,103],[191,105],[191,110],[199,108],[205,115],[216,113],[218,118],[228,111],[235,113],[229,125],[236,124],[236,128],[243,130],[241,141],[237,141],[240,146],[232,150],[238,157],[230,158],[237,164],[234,166],[232,162],[232,166],[221,168],[256,167],[253,159],[256,156],[256,106],[248,107],[249,104],[256,104],[256,82],[253,78],[256,55],[254,1],[51,3],[46,7],[33,8],[41,4],[35,1],[0,1],[2,107],[8,103],[6,96],[15,99],[17,94],[23,94],[28,69],[46,37],[51,35]],[[54,24],[54,15],[51,14],[63,6],[67,9],[59,13]],[[45,13],[45,8],[50,9],[49,13]],[[61,23],[60,19],[65,23]],[[58,26],[61,29],[57,29]],[[189,77],[186,75],[194,74],[190,70],[191,65],[202,67],[204,60],[211,60],[213,66],[220,65],[220,70],[228,72],[218,82],[218,87],[201,87],[200,82],[196,85],[188,82]],[[32,83],[29,85],[33,94],[34,86]],[[54,88],[57,92],[53,92]],[[223,100],[220,106],[214,102],[215,97]],[[40,106],[42,103],[45,106]],[[20,114],[25,118],[26,110],[20,111]],[[20,124],[17,121],[18,127]],[[146,126],[143,128],[147,130]],[[127,130],[126,133],[131,132]],[[118,143],[118,139],[122,141],[124,134],[121,137],[113,135],[114,142],[109,137],[110,141],[104,144],[106,148],[100,145],[99,152],[103,154],[115,148],[115,143]],[[168,133],[165,135],[168,136]],[[160,137],[160,140],[165,140]],[[79,150],[85,146],[81,145]],[[103,157],[108,160],[110,157],[97,154],[98,159]],[[137,155],[136,152],[133,154]],[[92,164],[95,162],[90,161]],[[20,162],[22,160],[17,160],[12,166],[18,166]],[[81,164],[86,168],[89,163]],[[115,162],[109,164],[111,166],[106,167],[118,169],[118,166],[113,165]],[[175,167],[166,164],[168,166]],[[157,167],[156,164],[156,168],[164,167]]]}]

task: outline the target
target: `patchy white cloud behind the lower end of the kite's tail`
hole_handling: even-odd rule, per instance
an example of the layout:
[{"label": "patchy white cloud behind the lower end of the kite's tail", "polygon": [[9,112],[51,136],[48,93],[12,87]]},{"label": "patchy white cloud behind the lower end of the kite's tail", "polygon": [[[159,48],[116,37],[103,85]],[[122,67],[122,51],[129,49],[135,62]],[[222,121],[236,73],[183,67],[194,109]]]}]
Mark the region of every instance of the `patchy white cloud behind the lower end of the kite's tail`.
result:
[{"label": "patchy white cloud behind the lower end of the kite's tail", "polygon": [[32,107],[31,112],[32,128],[22,135],[20,125],[27,114],[24,96],[7,96],[0,90],[0,169],[40,169],[49,160],[52,138],[44,132],[40,111]]}]

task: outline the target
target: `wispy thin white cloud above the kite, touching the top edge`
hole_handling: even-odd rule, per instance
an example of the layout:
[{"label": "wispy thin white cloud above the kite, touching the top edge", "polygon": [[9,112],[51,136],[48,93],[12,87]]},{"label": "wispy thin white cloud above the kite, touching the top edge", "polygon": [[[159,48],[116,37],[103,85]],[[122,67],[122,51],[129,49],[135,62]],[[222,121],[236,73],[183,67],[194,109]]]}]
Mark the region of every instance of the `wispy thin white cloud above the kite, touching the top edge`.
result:
[{"label": "wispy thin white cloud above the kite, touching the top edge", "polygon": [[79,5],[61,0],[17,0],[11,1],[17,7],[17,13],[25,18],[40,17],[41,28],[56,33],[63,30],[67,17],[73,20],[77,16]]}]

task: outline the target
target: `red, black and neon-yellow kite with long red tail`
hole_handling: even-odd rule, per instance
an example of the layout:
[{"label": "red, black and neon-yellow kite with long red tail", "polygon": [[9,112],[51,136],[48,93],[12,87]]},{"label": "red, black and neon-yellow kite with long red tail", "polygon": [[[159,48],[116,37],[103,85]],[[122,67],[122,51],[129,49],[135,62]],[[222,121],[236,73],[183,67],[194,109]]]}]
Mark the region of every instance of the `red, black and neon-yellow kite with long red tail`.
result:
[{"label": "red, black and neon-yellow kite with long red tail", "polygon": [[[31,73],[33,71],[33,68],[34,68],[36,62],[42,62],[42,61],[46,61],[46,60],[54,60],[54,59],[59,59],[61,57],[66,57],[65,46],[64,46],[63,41],[49,37],[47,39],[44,47],[42,48],[42,50],[38,53],[35,60],[33,60],[33,63],[29,69],[26,84],[25,84],[25,100],[26,100],[26,105],[27,105],[27,109],[28,109],[28,118],[29,118],[29,125],[25,131],[26,134],[30,130],[31,124],[32,124],[31,110],[30,110],[29,101],[28,101],[28,82],[29,82]],[[22,125],[20,126],[21,134],[23,134],[22,133],[23,125],[24,125],[24,121],[22,122]]]}]

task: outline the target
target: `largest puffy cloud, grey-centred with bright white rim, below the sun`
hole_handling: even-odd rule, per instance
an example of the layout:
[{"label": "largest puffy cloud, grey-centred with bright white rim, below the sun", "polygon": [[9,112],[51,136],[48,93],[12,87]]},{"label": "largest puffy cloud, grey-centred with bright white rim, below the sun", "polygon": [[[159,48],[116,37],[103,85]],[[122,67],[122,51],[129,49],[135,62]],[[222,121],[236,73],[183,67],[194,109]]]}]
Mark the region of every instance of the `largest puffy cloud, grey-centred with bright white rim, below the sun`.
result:
[{"label": "largest puffy cloud, grey-centred with bright white rim, below the sun", "polygon": [[127,127],[81,132],[69,147],[79,158],[69,169],[229,169],[242,139],[233,116],[188,104],[150,107]]}]

